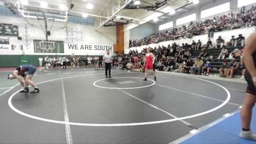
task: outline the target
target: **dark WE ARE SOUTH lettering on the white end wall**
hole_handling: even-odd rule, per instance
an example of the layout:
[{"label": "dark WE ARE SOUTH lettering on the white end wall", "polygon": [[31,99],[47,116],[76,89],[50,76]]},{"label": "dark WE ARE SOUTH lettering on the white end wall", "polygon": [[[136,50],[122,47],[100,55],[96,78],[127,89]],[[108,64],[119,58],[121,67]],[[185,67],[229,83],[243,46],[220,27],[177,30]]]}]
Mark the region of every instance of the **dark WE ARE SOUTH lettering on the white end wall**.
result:
[{"label": "dark WE ARE SOUTH lettering on the white end wall", "polygon": [[113,53],[113,45],[65,44],[65,53],[75,55],[103,55]]}]

